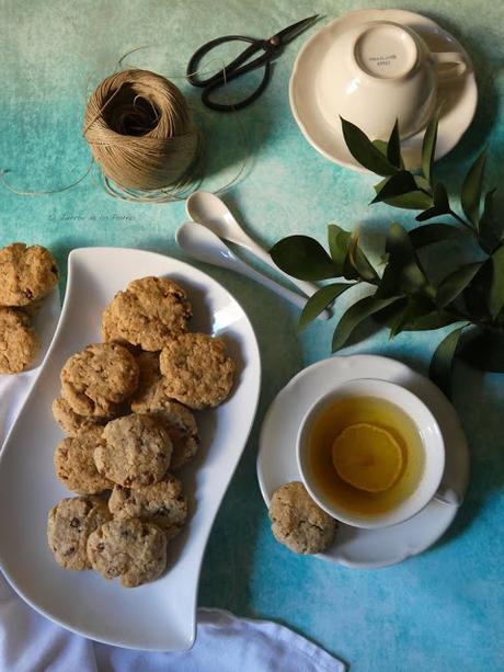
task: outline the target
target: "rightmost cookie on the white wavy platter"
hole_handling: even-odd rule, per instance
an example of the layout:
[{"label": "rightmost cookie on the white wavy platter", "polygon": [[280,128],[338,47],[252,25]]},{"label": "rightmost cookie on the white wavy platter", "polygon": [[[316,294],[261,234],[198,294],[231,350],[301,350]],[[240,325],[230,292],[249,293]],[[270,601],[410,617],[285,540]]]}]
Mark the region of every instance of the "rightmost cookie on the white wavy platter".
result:
[{"label": "rightmost cookie on the white wavy platter", "polygon": [[168,397],[193,409],[215,407],[231,391],[234,362],[221,339],[185,333],[167,343],[159,357]]}]

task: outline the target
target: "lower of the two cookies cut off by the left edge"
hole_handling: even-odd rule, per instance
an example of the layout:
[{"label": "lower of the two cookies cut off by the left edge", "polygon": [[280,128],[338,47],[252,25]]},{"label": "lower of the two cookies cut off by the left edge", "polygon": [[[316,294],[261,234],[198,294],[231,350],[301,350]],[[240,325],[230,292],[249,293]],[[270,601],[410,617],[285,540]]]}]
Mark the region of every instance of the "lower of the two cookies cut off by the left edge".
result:
[{"label": "lower of the two cookies cut off by the left edge", "polygon": [[28,316],[22,310],[0,307],[0,374],[26,371],[39,350]]}]

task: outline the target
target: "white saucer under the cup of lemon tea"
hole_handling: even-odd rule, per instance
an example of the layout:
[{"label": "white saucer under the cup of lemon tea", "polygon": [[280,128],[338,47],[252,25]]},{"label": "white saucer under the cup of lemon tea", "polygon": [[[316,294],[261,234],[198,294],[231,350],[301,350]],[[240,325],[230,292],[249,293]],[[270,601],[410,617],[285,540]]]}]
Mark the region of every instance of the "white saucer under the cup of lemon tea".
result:
[{"label": "white saucer under the cup of lemon tea", "polygon": [[334,356],[297,374],[277,395],[263,422],[257,477],[266,505],[282,485],[301,480],[296,436],[305,412],[334,387],[357,378],[379,378],[402,385],[431,409],[443,433],[445,474],[439,493],[415,516],[392,527],[362,529],[341,524],[333,546],[319,557],[346,567],[371,569],[401,562],[432,546],[451,524],[469,479],[469,451],[457,413],[443,392],[424,376],[396,360],[375,355]]}]

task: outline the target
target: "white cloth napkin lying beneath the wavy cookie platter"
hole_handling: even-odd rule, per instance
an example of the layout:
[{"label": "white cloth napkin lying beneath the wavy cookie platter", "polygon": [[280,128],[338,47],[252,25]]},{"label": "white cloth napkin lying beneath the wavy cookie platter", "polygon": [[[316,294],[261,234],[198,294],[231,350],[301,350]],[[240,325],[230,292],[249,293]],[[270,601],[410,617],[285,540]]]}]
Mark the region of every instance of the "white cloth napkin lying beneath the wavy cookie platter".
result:
[{"label": "white cloth napkin lying beneath the wavy cookie platter", "polygon": [[[35,327],[47,351],[59,297],[44,303]],[[0,375],[0,446],[41,367]],[[344,672],[345,665],[288,628],[199,608],[196,643],[181,653],[152,653],[98,643],[67,631],[27,606],[0,573],[0,671],[9,672]]]}]

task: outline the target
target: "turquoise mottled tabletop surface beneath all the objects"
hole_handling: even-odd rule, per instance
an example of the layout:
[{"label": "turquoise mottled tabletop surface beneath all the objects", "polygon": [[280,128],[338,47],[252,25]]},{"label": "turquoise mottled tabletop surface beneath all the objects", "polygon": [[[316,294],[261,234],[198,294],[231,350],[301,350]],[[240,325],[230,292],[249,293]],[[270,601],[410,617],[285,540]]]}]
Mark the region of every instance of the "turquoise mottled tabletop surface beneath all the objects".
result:
[{"label": "turquoise mottled tabletop surface beneath all the objects", "polygon": [[[423,12],[467,47],[478,72],[480,104],[469,133],[438,164],[439,175],[455,190],[470,159],[489,144],[489,184],[502,184],[504,12],[501,2],[490,0],[0,0],[0,168],[11,170],[9,180],[21,190],[58,187],[81,175],[90,160],[81,136],[85,92],[123,54],[148,46],[128,62],[180,78],[174,81],[208,138],[205,189],[218,189],[236,175],[247,153],[245,133],[245,174],[226,200],[257,240],[270,246],[287,234],[305,232],[323,242],[330,221],[347,229],[362,223],[365,230],[383,230],[397,213],[366,205],[373,178],[319,156],[290,115],[288,78],[306,36],[288,46],[267,91],[239,121],[202,111],[197,91],[182,78],[193,50],[211,37],[266,37],[316,12],[329,21],[366,7]],[[42,243],[57,254],[61,267],[69,250],[81,246],[125,246],[183,257],[173,234],[184,219],[183,203],[124,203],[91,179],[43,197],[16,196],[0,186],[0,244]],[[468,433],[472,474],[466,503],[438,544],[378,571],[297,557],[270,532],[255,476],[257,435],[277,391],[298,371],[329,354],[333,324],[313,324],[298,337],[296,309],[247,280],[201,267],[229,288],[249,314],[264,377],[256,422],[205,556],[199,604],[283,622],[355,671],[504,669],[504,377],[457,368],[455,405]],[[393,341],[385,332],[362,333],[364,340],[347,352],[387,354],[425,372],[443,333],[401,334]]]}]

